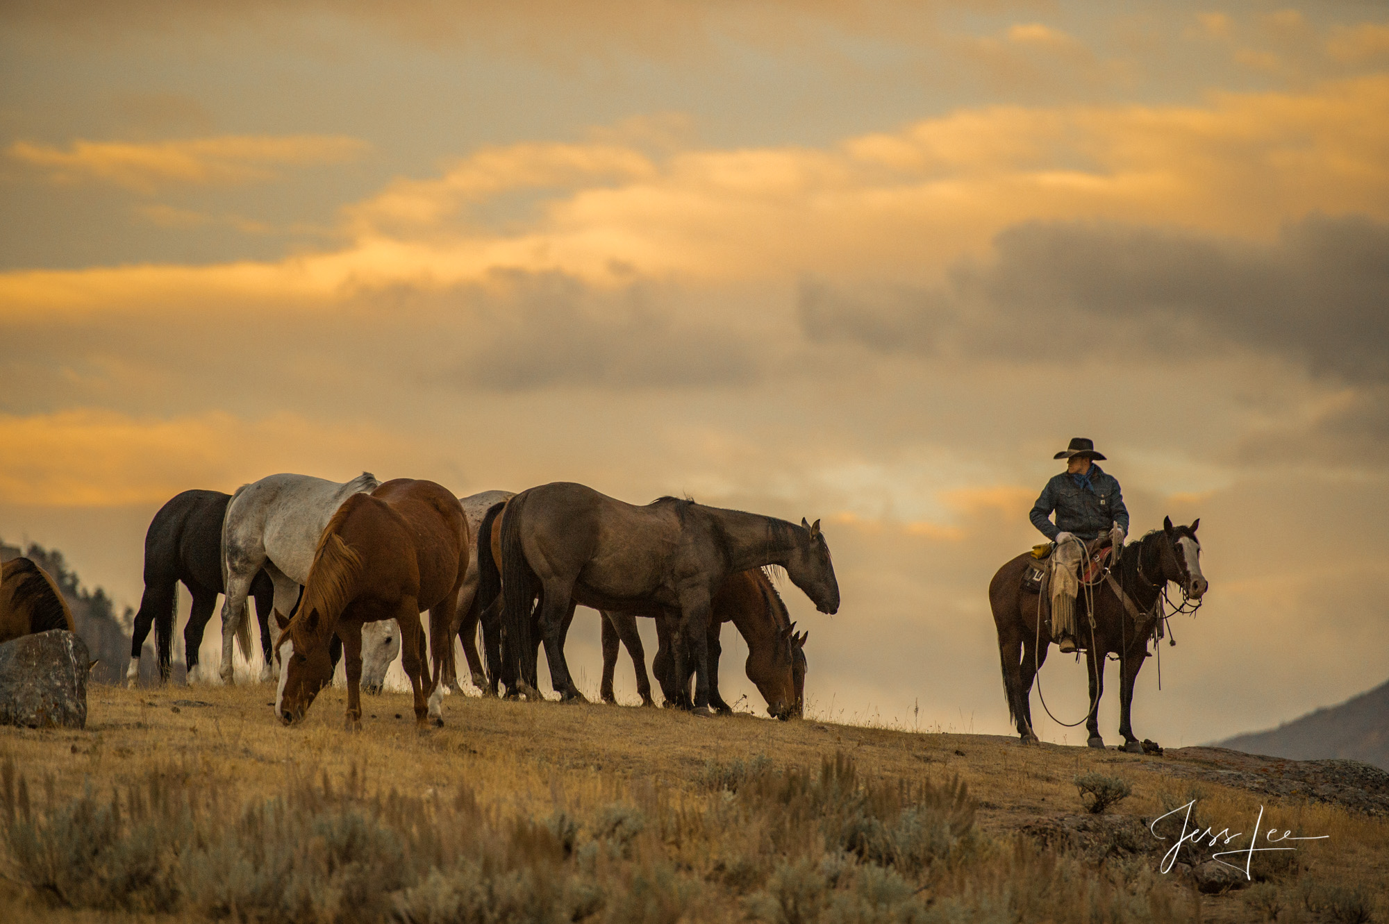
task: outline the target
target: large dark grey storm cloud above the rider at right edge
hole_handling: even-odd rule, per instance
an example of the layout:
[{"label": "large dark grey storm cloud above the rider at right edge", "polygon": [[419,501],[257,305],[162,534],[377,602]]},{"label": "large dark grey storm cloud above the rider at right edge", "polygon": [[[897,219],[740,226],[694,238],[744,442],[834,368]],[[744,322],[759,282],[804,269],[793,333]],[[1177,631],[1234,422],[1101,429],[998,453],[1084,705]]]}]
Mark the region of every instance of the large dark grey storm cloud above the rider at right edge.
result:
[{"label": "large dark grey storm cloud above the rider at right edge", "polygon": [[1026,223],[931,291],[807,283],[811,340],[1065,362],[1135,351],[1270,352],[1351,384],[1389,380],[1389,226],[1313,216],[1271,244],[1151,228]]}]

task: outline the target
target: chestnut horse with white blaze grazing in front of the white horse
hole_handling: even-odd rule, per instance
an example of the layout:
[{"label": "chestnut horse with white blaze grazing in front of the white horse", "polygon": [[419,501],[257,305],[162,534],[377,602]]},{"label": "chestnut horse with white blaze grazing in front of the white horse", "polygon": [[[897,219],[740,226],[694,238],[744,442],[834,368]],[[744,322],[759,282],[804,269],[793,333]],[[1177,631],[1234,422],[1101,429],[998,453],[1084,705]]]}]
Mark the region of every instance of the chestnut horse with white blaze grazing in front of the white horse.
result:
[{"label": "chestnut horse with white blaze grazing in front of the white horse", "polygon": [[[394,479],[371,494],[354,494],[333,513],[314,551],[304,597],[292,620],[279,617],[279,691],[275,715],[285,724],[304,717],[332,681],[328,640],[336,633],[347,659],[347,727],[361,726],[361,627],[394,620],[401,663],[415,698],[415,721],[426,713],[443,724],[444,663],[453,659],[450,630],[458,588],[468,572],[468,519],[458,498],[433,481]],[[433,670],[424,676],[429,610]]]}]

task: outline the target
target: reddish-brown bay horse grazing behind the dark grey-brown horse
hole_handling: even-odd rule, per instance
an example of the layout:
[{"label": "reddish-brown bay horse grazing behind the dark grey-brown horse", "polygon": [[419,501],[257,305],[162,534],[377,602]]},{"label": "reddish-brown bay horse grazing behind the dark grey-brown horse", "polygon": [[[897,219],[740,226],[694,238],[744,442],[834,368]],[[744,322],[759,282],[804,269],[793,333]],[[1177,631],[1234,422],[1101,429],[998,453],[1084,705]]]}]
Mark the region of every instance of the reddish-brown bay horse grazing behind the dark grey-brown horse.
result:
[{"label": "reddish-brown bay horse grazing behind the dark grey-brown horse", "polygon": [[[646,615],[646,613],[642,613]],[[643,705],[651,705],[651,683],[646,677],[642,638],[636,631],[638,613],[603,613],[603,701],[614,702],[613,670],[617,666],[618,641],[626,645],[636,670],[636,691]],[[731,713],[733,709],[718,692],[718,659],[722,653],[720,628],[733,623],[747,642],[745,670],[763,699],[767,701],[767,715],[775,719],[801,717],[806,706],[806,638],[808,633],[797,633],[790,622],[786,604],[772,585],[767,572],[753,567],[729,576],[714,594],[713,619],[708,628],[708,678],[710,706],[715,712]],[[661,684],[665,701],[679,699],[681,684],[674,676],[675,620],[665,613],[656,615],[656,634],[660,648],[651,669]],[[689,677],[685,677],[685,696],[689,696]]]}]

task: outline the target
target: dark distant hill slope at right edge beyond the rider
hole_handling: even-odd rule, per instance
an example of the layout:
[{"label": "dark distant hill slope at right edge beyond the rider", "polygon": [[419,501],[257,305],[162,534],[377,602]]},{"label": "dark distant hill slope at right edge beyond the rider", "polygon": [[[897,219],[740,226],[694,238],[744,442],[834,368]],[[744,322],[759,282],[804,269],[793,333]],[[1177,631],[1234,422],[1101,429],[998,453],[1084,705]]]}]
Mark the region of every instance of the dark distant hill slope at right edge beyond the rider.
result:
[{"label": "dark distant hill slope at right edge beyond the rider", "polygon": [[1389,770],[1389,681],[1268,731],[1217,742],[1245,753],[1293,760],[1347,758]]}]

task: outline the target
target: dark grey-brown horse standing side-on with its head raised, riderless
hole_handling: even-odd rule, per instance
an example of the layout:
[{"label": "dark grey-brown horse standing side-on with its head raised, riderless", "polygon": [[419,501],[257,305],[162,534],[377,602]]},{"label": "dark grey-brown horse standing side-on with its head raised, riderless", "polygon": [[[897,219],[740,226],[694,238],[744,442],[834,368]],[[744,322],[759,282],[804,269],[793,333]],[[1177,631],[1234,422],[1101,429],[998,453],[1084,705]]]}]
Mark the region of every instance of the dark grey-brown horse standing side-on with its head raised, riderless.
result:
[{"label": "dark grey-brown horse standing side-on with its head raised, riderless", "polygon": [[[661,498],[624,504],[582,484],[557,481],[511,498],[501,519],[501,597],[507,660],[532,691],[531,608],[539,597],[540,631],[551,685],[582,699],[564,660],[571,604],[600,610],[679,613],[675,676],[694,669],[699,715],[710,715],[708,626],[713,599],[731,574],[781,565],[824,613],[839,609],[829,547],[814,524]],[[511,670],[513,666],[506,666]]]}]

